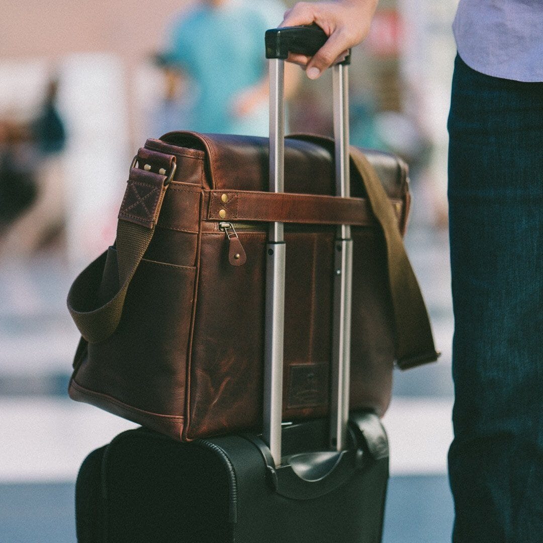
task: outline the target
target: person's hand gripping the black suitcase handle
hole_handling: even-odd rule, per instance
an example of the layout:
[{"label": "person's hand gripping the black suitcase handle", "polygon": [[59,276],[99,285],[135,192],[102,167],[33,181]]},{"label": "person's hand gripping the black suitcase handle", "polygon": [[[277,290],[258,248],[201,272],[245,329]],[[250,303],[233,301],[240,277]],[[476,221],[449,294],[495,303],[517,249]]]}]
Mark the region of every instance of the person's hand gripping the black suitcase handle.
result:
[{"label": "person's hand gripping the black suitcase handle", "polygon": [[291,53],[287,60],[304,66],[307,77],[317,79],[326,68],[342,60],[349,48],[358,45],[368,35],[377,2],[378,0],[298,2],[285,12],[280,27],[317,23],[329,38],[312,57]]}]

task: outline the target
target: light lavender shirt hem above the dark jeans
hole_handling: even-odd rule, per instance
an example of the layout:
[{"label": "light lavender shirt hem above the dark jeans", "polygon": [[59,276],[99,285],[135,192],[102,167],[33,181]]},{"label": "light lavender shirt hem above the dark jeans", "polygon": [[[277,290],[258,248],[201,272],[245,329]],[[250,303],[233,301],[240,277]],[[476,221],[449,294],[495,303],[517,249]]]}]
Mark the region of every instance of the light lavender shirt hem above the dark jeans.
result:
[{"label": "light lavender shirt hem above the dark jeans", "polygon": [[453,31],[473,70],[543,81],[543,0],[460,0]]}]

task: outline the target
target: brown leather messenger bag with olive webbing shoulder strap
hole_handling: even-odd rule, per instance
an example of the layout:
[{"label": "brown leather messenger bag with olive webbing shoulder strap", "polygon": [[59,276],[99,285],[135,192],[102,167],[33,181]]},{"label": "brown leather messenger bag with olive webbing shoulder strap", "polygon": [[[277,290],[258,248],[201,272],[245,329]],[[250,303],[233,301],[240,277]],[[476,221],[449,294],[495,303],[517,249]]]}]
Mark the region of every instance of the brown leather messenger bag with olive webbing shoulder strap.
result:
[{"label": "brown leather messenger bag with olive webbing shoulder strap", "polygon": [[[262,421],[268,222],[287,241],[283,420],[329,403],[334,232],[352,225],[351,408],[387,409],[394,362],[434,361],[405,250],[407,167],[351,149],[334,197],[333,143],[285,142],[286,193],[266,192],[266,138],[171,132],[130,169],[117,240],[75,280],[83,338],[70,396],[176,439]],[[383,190],[384,189],[384,190]]]}]

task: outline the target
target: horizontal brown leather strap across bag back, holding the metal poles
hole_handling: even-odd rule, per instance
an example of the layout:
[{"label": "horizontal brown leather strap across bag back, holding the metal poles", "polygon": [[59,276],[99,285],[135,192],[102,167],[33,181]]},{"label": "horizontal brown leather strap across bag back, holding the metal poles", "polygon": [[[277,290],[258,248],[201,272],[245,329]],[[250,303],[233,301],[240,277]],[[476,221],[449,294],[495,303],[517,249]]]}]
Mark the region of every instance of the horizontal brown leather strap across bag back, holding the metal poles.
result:
[{"label": "horizontal brown leather strap across bag back, holding the metal poles", "polygon": [[[400,220],[402,201],[391,199],[390,205]],[[376,223],[365,198],[228,190],[209,191],[207,219],[353,226]]]}]

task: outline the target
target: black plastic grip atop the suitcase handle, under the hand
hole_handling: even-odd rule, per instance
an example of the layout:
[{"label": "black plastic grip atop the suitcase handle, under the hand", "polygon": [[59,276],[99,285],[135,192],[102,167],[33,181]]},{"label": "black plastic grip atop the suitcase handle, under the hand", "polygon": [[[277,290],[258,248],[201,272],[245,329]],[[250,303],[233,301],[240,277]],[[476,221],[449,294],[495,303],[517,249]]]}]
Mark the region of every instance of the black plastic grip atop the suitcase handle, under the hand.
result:
[{"label": "black plastic grip atop the suitcase handle, under the hand", "polygon": [[[311,24],[310,26],[271,28],[266,30],[267,59],[286,59],[288,53],[313,56],[326,43],[325,31]],[[341,63],[350,64],[350,55]]]}]

